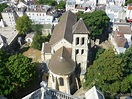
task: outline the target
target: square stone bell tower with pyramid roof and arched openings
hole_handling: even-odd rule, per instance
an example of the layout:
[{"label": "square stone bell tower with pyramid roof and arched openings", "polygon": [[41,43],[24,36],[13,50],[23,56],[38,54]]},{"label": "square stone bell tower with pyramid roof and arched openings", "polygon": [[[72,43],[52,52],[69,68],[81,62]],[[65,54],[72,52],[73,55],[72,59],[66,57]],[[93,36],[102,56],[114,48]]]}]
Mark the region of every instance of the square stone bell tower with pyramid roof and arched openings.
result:
[{"label": "square stone bell tower with pyramid roof and arched openings", "polygon": [[73,26],[72,59],[76,62],[77,72],[84,76],[88,64],[90,33],[82,18]]}]

